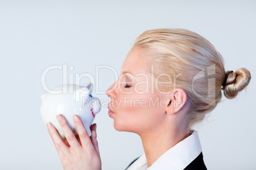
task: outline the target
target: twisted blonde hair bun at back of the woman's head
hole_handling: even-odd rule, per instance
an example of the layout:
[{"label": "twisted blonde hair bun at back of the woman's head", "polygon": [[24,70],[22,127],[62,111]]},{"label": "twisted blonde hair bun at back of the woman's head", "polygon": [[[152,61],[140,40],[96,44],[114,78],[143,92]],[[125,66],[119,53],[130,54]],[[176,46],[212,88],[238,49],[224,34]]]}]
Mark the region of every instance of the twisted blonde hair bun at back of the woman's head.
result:
[{"label": "twisted blonde hair bun at back of the woman's head", "polygon": [[245,68],[240,68],[236,72],[227,71],[222,84],[224,96],[230,99],[236,97],[239,91],[248,86],[250,79],[251,74]]}]

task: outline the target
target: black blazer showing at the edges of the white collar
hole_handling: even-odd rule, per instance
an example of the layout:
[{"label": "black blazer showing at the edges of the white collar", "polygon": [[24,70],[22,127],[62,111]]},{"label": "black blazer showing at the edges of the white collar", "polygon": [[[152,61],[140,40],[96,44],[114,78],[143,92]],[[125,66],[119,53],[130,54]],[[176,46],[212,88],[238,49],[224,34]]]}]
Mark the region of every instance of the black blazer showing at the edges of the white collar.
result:
[{"label": "black blazer showing at the edges of the white collar", "polygon": [[[139,157],[138,157],[137,159],[139,159]],[[133,161],[131,162],[131,164],[132,164],[133,162],[135,162],[137,159],[133,160]],[[131,164],[129,164],[129,166],[131,166]],[[129,166],[128,166],[128,167],[129,167]],[[128,168],[128,167],[127,167],[127,168]],[[126,168],[126,169],[127,169],[127,168]],[[126,169],[125,169],[125,170],[126,170]],[[171,170],[171,169],[170,169],[170,170]],[[190,164],[188,164],[188,166],[185,167],[185,169],[183,169],[183,170],[207,170],[206,166],[204,165],[203,153],[201,152],[201,153],[196,157],[196,159],[194,159]]]}]

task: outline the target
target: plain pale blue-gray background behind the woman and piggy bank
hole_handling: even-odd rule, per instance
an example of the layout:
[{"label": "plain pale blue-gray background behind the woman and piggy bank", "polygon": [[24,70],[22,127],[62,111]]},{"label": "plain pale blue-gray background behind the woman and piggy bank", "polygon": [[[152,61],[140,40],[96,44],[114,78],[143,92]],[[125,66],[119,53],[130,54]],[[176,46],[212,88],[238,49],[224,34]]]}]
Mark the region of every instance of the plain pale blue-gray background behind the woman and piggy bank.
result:
[{"label": "plain pale blue-gray background behind the woman and piggy bank", "polygon": [[[169,27],[206,37],[226,70],[250,70],[248,88],[234,100],[223,97],[196,129],[208,169],[256,169],[256,1],[55,0],[0,1],[0,169],[62,169],[40,115],[46,67],[68,64],[71,74],[95,76],[96,65],[109,65],[120,74],[139,34]],[[62,72],[50,72],[46,81],[50,88],[62,84]],[[106,91],[115,76],[102,69],[97,81]],[[103,169],[124,169],[143,147],[138,135],[115,131],[107,111],[94,121]]]}]

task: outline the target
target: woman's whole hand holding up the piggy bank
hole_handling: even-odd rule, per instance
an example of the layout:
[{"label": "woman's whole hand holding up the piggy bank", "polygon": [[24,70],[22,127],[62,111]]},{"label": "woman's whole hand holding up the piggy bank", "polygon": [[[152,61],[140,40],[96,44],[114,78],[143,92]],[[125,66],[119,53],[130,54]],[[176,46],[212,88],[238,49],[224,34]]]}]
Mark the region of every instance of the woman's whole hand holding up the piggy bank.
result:
[{"label": "woman's whole hand holding up the piggy bank", "polygon": [[66,137],[65,141],[60,138],[52,123],[48,122],[47,127],[64,169],[101,169],[96,124],[90,126],[92,136],[89,137],[80,117],[74,115],[78,129],[78,136],[75,136],[64,116],[57,115],[57,119]]}]

